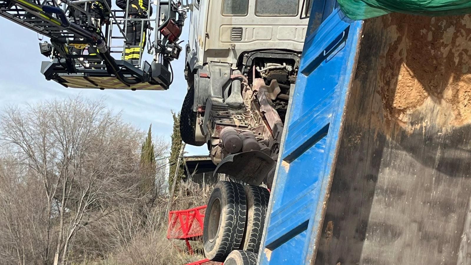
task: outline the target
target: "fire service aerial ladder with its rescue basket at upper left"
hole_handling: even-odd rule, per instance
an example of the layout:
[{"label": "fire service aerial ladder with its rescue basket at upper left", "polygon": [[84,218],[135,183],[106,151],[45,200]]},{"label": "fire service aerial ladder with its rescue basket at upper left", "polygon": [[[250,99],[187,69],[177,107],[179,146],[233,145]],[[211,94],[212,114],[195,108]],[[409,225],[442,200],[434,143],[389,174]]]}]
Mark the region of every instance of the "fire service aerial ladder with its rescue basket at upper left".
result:
[{"label": "fire service aerial ladder with its rescue basket at upper left", "polygon": [[[150,12],[135,18],[106,0],[0,0],[0,17],[49,37],[50,43],[40,43],[41,53],[51,59],[41,63],[47,80],[70,88],[167,90],[171,61],[182,50],[177,42],[186,9],[179,0],[158,0],[157,7],[155,18]],[[141,25],[140,36],[155,31],[154,40],[147,40],[152,62],[142,60],[146,47],[140,47],[138,60],[123,59],[130,21]]]}]

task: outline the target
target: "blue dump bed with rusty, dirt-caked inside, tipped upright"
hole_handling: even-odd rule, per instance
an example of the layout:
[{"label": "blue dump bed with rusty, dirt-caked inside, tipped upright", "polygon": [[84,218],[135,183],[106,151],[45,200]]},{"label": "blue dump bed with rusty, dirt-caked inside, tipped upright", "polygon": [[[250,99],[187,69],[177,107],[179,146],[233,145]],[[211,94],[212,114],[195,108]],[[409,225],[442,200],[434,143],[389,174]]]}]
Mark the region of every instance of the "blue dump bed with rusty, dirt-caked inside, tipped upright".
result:
[{"label": "blue dump bed with rusty, dirt-caked inside, tipped upright", "polygon": [[471,17],[319,2],[260,264],[471,264]]}]

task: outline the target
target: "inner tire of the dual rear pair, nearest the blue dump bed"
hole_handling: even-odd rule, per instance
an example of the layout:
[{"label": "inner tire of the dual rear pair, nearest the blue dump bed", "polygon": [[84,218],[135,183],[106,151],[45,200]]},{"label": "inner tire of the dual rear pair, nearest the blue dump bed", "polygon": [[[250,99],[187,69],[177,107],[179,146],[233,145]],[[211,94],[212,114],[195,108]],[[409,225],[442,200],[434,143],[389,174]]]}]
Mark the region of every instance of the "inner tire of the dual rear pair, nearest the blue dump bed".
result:
[{"label": "inner tire of the dual rear pair, nearest the blue dump bed", "polygon": [[241,249],[259,253],[270,193],[266,188],[252,185],[245,186],[244,190],[247,197],[247,220]]}]

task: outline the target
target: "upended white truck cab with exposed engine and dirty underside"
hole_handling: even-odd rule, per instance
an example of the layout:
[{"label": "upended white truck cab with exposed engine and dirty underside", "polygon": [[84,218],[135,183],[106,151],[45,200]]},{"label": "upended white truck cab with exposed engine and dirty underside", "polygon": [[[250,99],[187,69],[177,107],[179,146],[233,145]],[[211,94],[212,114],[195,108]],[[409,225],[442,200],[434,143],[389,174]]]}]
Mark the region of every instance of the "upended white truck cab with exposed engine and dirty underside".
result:
[{"label": "upended white truck cab with exposed engine and dirty underside", "polygon": [[193,1],[180,133],[187,144],[208,145],[217,173],[254,185],[274,173],[309,5]]}]

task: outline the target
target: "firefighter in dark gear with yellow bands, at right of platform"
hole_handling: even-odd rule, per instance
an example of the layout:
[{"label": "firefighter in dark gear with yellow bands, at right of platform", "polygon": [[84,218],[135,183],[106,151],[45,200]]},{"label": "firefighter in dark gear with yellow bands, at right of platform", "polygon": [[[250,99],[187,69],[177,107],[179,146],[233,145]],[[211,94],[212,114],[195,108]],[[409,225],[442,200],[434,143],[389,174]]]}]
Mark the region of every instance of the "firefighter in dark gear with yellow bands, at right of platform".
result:
[{"label": "firefighter in dark gear with yellow bands, at right of platform", "polygon": [[[147,18],[147,12],[152,15],[152,6],[149,6],[148,0],[116,0],[116,5],[126,11],[128,1],[128,18]],[[146,45],[146,29],[148,26],[147,21],[144,21],[144,27],[142,20],[128,21],[126,29],[126,38],[128,40],[124,49],[124,60],[139,60],[140,54],[142,54]]]}]

